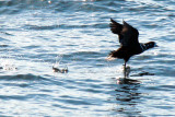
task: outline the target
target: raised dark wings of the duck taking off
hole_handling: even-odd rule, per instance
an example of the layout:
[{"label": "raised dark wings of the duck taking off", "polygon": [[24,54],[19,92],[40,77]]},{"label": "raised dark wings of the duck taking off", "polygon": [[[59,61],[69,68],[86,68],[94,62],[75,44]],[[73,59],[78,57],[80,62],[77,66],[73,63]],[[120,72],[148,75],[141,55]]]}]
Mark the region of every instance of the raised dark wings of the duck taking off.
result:
[{"label": "raised dark wings of the duck taking off", "polygon": [[125,21],[122,25],[110,19],[110,31],[117,34],[119,37],[119,43],[121,46],[136,46],[139,44],[138,36],[139,32],[137,28],[132,27]]}]

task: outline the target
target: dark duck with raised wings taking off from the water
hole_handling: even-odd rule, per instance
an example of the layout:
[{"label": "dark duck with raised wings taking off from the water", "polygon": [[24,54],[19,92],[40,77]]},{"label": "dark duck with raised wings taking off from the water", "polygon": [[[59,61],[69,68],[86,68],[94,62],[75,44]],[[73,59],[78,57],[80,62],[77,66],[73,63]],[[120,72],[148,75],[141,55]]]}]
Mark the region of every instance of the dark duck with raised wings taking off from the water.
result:
[{"label": "dark duck with raised wings taking off from the water", "polygon": [[109,24],[110,31],[118,35],[120,47],[109,52],[107,60],[114,60],[116,58],[124,59],[124,69],[126,69],[127,62],[130,57],[139,55],[150,48],[158,47],[155,42],[139,43],[139,31],[125,22],[119,24],[110,17]]}]

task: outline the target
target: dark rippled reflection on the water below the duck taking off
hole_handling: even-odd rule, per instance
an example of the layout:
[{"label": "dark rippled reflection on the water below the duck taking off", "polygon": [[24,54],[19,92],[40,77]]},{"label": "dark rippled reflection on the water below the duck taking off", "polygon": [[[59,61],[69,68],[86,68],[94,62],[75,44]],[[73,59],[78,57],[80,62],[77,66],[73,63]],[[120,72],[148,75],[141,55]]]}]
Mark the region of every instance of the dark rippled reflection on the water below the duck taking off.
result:
[{"label": "dark rippled reflection on the water below the duck taking off", "polygon": [[[142,103],[141,97],[143,95],[140,91],[141,81],[136,80],[137,78],[135,79],[135,75],[130,78],[129,74],[130,68],[128,67],[124,70],[124,78],[116,78],[116,106],[113,107],[113,110],[120,116],[141,116],[141,109],[139,107],[139,104]],[[149,73],[147,72],[145,75],[149,75]]]}]

